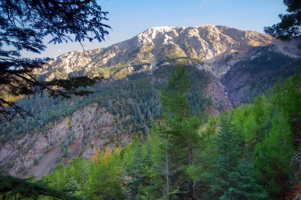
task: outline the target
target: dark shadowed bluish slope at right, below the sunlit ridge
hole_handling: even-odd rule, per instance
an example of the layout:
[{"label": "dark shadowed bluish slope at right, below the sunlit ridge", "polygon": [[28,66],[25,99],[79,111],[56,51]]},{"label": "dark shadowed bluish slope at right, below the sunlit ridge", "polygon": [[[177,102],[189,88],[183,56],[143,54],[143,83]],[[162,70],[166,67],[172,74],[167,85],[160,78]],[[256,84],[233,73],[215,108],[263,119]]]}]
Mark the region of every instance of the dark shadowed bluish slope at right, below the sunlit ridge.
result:
[{"label": "dark shadowed bluish slope at right, below the sunlit ridge", "polygon": [[[221,77],[233,104],[252,102],[280,77],[286,79],[301,70],[298,59],[278,53],[274,48],[269,45],[249,49],[251,56],[237,61]],[[235,59],[235,54],[226,59]]]}]

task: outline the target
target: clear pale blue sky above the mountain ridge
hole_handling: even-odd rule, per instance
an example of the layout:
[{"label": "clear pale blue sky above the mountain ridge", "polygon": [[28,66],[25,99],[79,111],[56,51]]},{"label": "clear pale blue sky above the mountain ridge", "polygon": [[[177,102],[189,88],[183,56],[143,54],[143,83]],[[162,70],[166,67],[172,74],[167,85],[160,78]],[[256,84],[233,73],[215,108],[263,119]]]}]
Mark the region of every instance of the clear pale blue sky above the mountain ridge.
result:
[{"label": "clear pale blue sky above the mountain ridge", "polygon": [[[283,0],[98,0],[108,11],[112,27],[106,41],[84,42],[85,49],[106,47],[131,38],[154,26],[226,25],[263,32],[263,27],[279,22],[284,13]],[[47,42],[47,41],[45,41]],[[30,57],[56,57],[72,50],[82,50],[79,43],[48,44],[42,54],[24,52]]]}]

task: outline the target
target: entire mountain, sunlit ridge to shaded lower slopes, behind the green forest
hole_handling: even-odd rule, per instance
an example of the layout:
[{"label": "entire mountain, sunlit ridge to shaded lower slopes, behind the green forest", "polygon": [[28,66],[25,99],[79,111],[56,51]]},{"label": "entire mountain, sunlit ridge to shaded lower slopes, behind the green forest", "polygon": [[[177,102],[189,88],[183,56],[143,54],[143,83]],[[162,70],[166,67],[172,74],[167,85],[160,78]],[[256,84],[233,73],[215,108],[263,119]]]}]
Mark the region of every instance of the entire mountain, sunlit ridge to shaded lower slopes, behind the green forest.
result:
[{"label": "entire mountain, sunlit ridge to shaded lower slopes, behind the green forest", "polygon": [[162,26],[106,48],[62,54],[37,75],[106,79],[86,97],[19,100],[38,121],[16,118],[0,128],[0,164],[12,175],[33,172],[41,178],[62,157],[68,164],[77,154],[90,158],[97,148],[145,137],[161,116],[160,89],[178,64],[188,70],[194,112],[217,114],[252,102],[280,77],[300,70],[299,43],[220,25]]}]

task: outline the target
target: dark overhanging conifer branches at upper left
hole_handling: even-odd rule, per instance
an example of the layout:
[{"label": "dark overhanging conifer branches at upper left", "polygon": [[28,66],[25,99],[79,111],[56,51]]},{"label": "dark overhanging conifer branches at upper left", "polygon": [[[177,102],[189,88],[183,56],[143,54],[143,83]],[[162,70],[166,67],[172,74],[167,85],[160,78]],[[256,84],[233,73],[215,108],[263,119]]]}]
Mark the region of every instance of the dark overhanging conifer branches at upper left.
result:
[{"label": "dark overhanging conifer branches at upper left", "polygon": [[[108,12],[96,0],[0,0],[0,123],[14,116],[33,116],[19,107],[14,98],[49,93],[52,97],[91,93],[82,86],[92,86],[103,76],[39,79],[36,71],[51,58],[23,57],[21,51],[41,53],[48,43],[105,40],[109,25],[102,23]],[[48,38],[48,37],[47,37]],[[10,50],[5,50],[10,49]],[[9,97],[9,98],[8,98]]]}]

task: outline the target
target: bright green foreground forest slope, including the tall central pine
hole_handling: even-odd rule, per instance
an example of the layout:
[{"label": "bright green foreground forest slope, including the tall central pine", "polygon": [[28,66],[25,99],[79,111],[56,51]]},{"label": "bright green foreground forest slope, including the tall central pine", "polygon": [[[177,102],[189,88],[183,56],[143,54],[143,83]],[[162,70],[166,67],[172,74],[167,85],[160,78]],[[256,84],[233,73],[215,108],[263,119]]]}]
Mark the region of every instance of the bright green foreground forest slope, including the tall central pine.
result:
[{"label": "bright green foreground forest slope, including the tall central pine", "polygon": [[214,117],[190,109],[190,82],[177,67],[150,133],[67,167],[58,159],[42,180],[84,199],[297,199],[300,76]]}]

